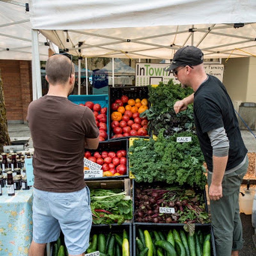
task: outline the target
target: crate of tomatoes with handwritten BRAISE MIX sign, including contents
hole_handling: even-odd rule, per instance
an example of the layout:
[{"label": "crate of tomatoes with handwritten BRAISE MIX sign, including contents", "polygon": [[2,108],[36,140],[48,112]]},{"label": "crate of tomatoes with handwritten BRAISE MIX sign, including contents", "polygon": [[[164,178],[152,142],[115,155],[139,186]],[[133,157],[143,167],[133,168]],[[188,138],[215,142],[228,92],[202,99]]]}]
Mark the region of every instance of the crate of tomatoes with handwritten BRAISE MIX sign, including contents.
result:
[{"label": "crate of tomatoes with handwritten BRAISE MIX sign, including contents", "polygon": [[128,172],[128,140],[102,141],[84,153],[84,179],[124,178]]}]

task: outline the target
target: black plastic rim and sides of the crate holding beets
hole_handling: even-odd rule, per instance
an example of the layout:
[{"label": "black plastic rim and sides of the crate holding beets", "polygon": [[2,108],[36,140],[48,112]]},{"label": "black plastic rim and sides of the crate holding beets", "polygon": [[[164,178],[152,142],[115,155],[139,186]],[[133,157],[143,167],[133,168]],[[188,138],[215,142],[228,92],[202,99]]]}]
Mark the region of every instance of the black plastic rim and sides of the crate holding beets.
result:
[{"label": "black plastic rim and sides of the crate holding beets", "polygon": [[[159,182],[159,181],[156,181],[156,182],[152,182],[152,183],[148,183],[148,182],[136,182],[135,179],[132,180],[132,189],[133,189],[133,192],[132,192],[132,203],[133,203],[133,219],[132,219],[132,222],[134,223],[143,223],[143,224],[154,224],[153,221],[149,221],[149,222],[138,222],[136,221],[137,219],[135,219],[135,215],[136,215],[136,210],[137,210],[137,205],[136,205],[136,188],[138,188],[138,186],[140,185],[143,185],[145,188],[155,188],[156,186],[159,186],[160,188],[163,188],[163,187],[171,187],[171,186],[176,186],[177,184],[168,184],[166,182]],[[177,185],[179,186],[179,185]],[[184,189],[186,188],[185,186],[182,186]],[[204,207],[205,207],[205,212],[208,212],[208,208],[207,208],[207,199],[206,199],[206,193],[205,193],[205,189],[204,190],[201,190],[199,188],[193,188],[194,191],[196,192],[196,194],[203,194],[204,196]],[[166,207],[169,207],[169,206],[166,206]],[[156,223],[158,224],[158,223]],[[162,224],[179,224],[179,223],[159,223],[159,225],[162,225]],[[200,223],[197,223],[197,224],[200,224]],[[182,224],[181,224],[182,225]]]}]

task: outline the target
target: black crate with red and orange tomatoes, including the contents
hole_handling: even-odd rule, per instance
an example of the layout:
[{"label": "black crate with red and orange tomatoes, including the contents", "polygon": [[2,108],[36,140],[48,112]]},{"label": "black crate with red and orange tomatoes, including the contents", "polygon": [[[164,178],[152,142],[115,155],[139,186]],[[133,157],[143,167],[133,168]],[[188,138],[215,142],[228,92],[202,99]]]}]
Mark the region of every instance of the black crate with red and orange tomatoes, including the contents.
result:
[{"label": "black crate with red and orange tomatoes, including the contents", "polygon": [[141,117],[148,108],[147,86],[109,87],[109,139],[149,136],[147,117]]}]

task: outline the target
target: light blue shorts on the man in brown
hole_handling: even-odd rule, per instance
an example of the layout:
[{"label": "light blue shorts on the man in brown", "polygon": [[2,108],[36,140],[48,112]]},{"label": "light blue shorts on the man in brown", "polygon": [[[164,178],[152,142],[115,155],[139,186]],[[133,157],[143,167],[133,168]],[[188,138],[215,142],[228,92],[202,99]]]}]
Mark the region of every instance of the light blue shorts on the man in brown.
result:
[{"label": "light blue shorts on the man in brown", "polygon": [[60,229],[68,253],[81,254],[89,246],[92,227],[90,190],[55,193],[33,189],[33,240],[38,244],[56,241]]}]

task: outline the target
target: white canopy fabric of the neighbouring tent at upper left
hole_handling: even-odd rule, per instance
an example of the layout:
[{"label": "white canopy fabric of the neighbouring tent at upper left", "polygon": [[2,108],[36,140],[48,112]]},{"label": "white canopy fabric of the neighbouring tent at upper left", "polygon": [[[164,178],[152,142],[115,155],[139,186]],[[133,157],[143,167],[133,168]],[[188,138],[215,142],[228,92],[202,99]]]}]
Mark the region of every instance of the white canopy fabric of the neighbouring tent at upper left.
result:
[{"label": "white canopy fabric of the neighbouring tent at upper left", "polygon": [[[31,23],[26,12],[28,0],[0,1],[0,59],[31,60]],[[48,58],[46,38],[39,35],[40,59]],[[9,49],[9,50],[7,50]]]}]

